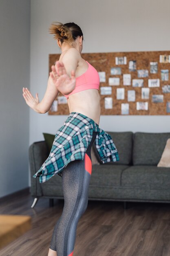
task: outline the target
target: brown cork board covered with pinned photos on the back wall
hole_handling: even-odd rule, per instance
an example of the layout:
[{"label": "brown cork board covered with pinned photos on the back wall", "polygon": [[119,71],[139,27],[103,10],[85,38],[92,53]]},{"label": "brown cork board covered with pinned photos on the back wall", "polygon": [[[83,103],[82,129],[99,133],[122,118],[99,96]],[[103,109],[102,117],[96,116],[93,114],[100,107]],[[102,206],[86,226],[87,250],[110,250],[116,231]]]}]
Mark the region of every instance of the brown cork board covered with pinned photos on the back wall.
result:
[{"label": "brown cork board covered with pinned photos on the back wall", "polygon": [[[81,56],[100,74],[101,115],[170,115],[170,51]],[[49,72],[59,58],[60,54],[49,54]],[[54,105],[49,115],[69,114],[64,98],[59,92],[55,100],[57,111]]]}]

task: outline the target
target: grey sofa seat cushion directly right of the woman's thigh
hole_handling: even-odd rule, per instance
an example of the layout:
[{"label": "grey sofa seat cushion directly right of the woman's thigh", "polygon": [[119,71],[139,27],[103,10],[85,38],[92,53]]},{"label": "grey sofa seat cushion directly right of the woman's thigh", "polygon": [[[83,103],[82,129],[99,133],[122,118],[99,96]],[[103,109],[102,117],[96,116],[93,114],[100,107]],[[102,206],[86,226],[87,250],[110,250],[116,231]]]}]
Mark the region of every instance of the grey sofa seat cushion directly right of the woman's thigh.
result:
[{"label": "grey sofa seat cushion directly right of the woman's thigh", "polygon": [[100,164],[93,165],[91,174],[91,186],[112,187],[120,186],[121,172],[129,167],[128,165]]}]

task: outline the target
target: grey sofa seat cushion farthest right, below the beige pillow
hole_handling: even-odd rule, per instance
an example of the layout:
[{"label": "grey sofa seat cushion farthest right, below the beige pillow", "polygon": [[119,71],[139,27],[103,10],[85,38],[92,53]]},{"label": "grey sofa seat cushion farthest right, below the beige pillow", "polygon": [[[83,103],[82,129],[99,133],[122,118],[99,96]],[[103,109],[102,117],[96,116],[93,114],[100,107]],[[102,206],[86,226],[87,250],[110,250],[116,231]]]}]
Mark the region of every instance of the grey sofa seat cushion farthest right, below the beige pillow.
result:
[{"label": "grey sofa seat cushion farthest right, below the beige pillow", "polygon": [[170,168],[157,166],[130,166],[121,175],[121,186],[146,189],[169,189]]}]

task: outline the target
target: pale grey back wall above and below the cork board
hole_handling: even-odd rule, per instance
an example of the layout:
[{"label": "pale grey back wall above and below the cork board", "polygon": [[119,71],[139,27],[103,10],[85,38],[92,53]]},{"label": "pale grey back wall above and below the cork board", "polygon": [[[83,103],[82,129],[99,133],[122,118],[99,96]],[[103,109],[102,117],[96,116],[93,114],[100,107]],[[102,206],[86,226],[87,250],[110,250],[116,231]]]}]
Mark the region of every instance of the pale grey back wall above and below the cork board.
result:
[{"label": "pale grey back wall above and below the cork board", "polygon": [[[75,22],[84,34],[84,52],[170,50],[169,0],[31,0],[31,92],[46,90],[49,54],[61,53],[48,29],[53,21]],[[30,110],[29,143],[55,133],[66,115]],[[112,125],[110,125],[110,123]],[[107,131],[169,132],[170,116],[101,116]]]}]

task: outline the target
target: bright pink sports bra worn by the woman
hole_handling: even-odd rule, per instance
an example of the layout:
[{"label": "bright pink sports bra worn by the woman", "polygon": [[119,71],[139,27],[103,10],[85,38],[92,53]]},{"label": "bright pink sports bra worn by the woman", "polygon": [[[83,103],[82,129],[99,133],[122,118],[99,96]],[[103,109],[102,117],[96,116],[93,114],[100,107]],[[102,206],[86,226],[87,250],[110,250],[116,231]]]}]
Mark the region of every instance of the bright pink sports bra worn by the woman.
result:
[{"label": "bright pink sports bra worn by the woman", "polygon": [[[86,62],[88,63],[88,61]],[[75,89],[70,94],[67,94],[67,95],[63,94],[63,95],[66,97],[66,99],[68,99],[68,97],[71,94],[74,94],[76,92],[81,92],[88,89],[99,90],[99,84],[100,84],[99,73],[90,63],[88,63],[88,70],[86,70],[84,74],[76,78]]]}]

